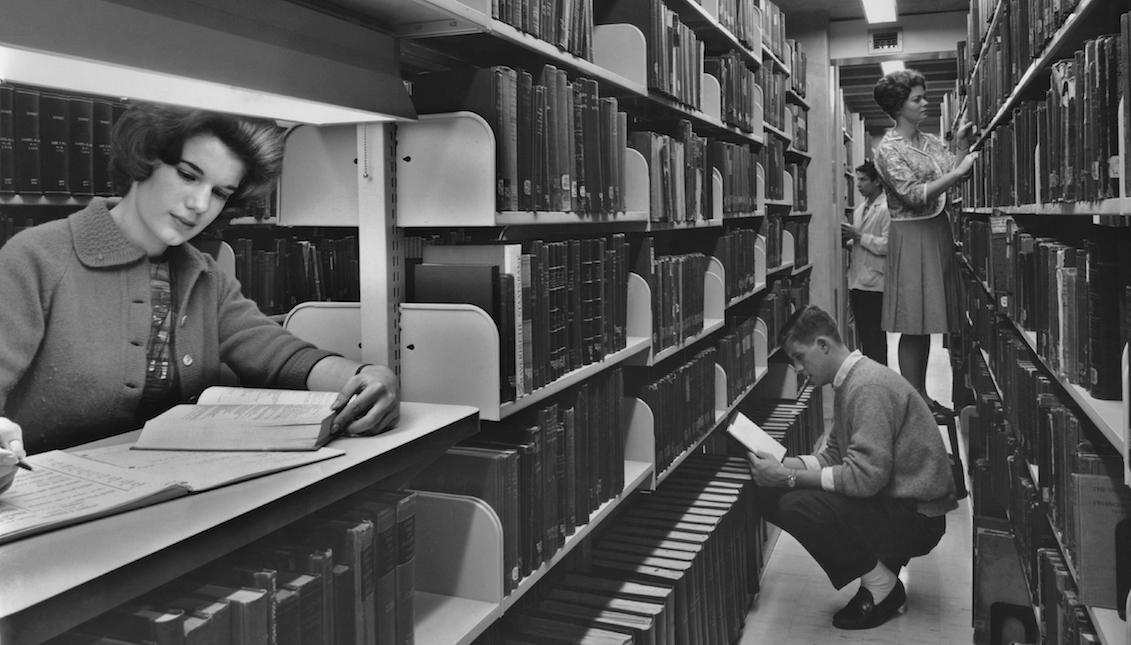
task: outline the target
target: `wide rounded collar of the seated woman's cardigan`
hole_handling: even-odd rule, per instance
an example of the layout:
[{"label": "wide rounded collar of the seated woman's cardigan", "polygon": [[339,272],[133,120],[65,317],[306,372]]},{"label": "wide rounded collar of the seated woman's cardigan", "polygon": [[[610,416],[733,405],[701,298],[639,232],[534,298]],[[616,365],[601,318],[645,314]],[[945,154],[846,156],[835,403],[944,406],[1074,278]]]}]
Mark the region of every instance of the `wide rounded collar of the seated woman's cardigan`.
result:
[{"label": "wide rounded collar of the seated woman's cardigan", "polygon": [[[129,265],[145,259],[145,251],[135,246],[118,227],[110,209],[116,199],[94,198],[90,204],[69,217],[75,238],[75,252],[79,261],[90,268]],[[189,267],[202,269],[204,264],[183,247],[172,247],[167,251],[171,261],[189,263]],[[200,265],[200,266],[196,266]]]}]

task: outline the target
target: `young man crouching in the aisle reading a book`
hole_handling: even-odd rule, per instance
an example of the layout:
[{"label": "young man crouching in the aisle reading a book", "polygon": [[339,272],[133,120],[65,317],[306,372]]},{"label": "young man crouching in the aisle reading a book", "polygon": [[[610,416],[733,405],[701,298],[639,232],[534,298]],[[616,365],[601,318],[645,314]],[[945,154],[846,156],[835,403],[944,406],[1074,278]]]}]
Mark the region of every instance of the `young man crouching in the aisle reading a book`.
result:
[{"label": "young man crouching in the aisle reading a book", "polygon": [[947,447],[910,384],[849,352],[819,307],[795,311],[778,342],[798,375],[832,386],[832,428],[817,455],[746,454],[759,510],[797,539],[832,586],[860,580],[835,627],[878,627],[907,600],[899,570],[939,543],[947,513],[958,508]]}]

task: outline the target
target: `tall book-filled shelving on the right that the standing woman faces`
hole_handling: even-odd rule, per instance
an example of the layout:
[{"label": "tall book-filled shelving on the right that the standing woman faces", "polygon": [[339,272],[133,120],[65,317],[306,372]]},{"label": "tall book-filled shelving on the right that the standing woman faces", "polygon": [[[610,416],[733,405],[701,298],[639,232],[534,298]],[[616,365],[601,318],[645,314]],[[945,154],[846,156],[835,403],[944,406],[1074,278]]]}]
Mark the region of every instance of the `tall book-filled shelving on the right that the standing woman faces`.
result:
[{"label": "tall book-filled shelving on the right that the standing woman faces", "polygon": [[[1076,160],[1089,164],[1089,155],[1100,148],[1108,150],[1113,157],[1125,160],[1126,86],[1122,78],[1116,81],[1117,86],[1111,86],[1099,75],[1069,81],[1064,80],[1062,72],[1068,71],[1067,66],[1072,66],[1073,71],[1079,71],[1077,66],[1081,64],[1093,69],[1091,61],[1104,60],[1105,52],[1097,44],[1100,36],[1113,34],[1115,40],[1121,41],[1120,46],[1125,46],[1126,33],[1121,35],[1120,19],[1131,7],[1126,3],[1080,0],[1062,10],[1053,22],[1045,22],[1039,28],[1024,29],[1018,27],[1019,10],[1024,11],[1024,8],[1008,0],[972,2],[972,15],[978,18],[970,22],[968,42],[974,44],[967,49],[968,58],[962,61],[965,69],[970,70],[966,114],[981,128],[975,146],[983,150],[983,156],[975,164],[974,181],[961,190],[962,215],[957,224],[961,231],[959,253],[964,259],[962,275],[970,284],[965,325],[978,347],[977,356],[967,360],[965,371],[981,396],[978,410],[986,413],[1003,410],[1005,414],[1004,428],[996,427],[996,418],[984,419],[981,423],[991,427],[991,438],[981,439],[991,442],[987,448],[991,453],[988,467],[1000,468],[1000,462],[1007,455],[1024,462],[1013,472],[1025,475],[1018,478],[1019,481],[1025,480],[1021,482],[1025,485],[1010,485],[1004,496],[1000,491],[995,493],[998,504],[1008,501],[1011,507],[1005,509],[1005,526],[1017,540],[1016,551],[1021,568],[1031,568],[1029,562],[1036,561],[1027,552],[1027,547],[1036,548],[1036,544],[1029,547],[1030,542],[1046,536],[1064,561],[1068,571],[1064,584],[1073,591],[1088,585],[1088,593],[1095,594],[1089,596],[1096,599],[1095,603],[1089,600],[1085,607],[1086,618],[1072,621],[1072,629],[1089,634],[1089,637],[1094,633],[1097,642],[1114,645],[1124,643],[1128,635],[1126,622],[1113,609],[1122,605],[1125,599],[1112,601],[1106,597],[1116,594],[1106,586],[1097,587],[1096,580],[1102,579],[1099,571],[1089,567],[1081,569],[1079,562],[1073,561],[1080,553],[1077,538],[1071,535],[1071,531],[1069,535],[1062,533],[1057,522],[1064,522],[1063,517],[1054,518],[1056,513],[1072,516],[1079,513],[1080,517],[1071,522],[1096,525],[1106,519],[1083,515],[1089,505],[1078,505],[1074,492],[1068,496],[1067,502],[1060,501],[1061,496],[1068,493],[1057,491],[1057,488],[1064,487],[1057,478],[1073,476],[1076,464],[1061,466],[1065,470],[1060,473],[1054,470],[1051,482],[1042,481],[1046,476],[1043,468],[1048,466],[1041,464],[1055,461],[1057,452],[1055,447],[1043,448],[1039,430],[1033,435],[1025,419],[1038,414],[1042,408],[1038,402],[1045,405],[1054,401],[1055,405],[1071,411],[1082,428],[1089,432],[1095,429],[1088,438],[1100,454],[1112,454],[1105,453],[1112,450],[1123,457],[1120,467],[1122,476],[1113,476],[1108,488],[1112,494],[1120,490],[1125,492],[1125,485],[1131,481],[1126,475],[1125,461],[1131,439],[1126,412],[1126,349],[1115,339],[1121,334],[1117,329],[1122,321],[1117,318],[1122,313],[1114,312],[1124,304],[1125,280],[1122,274],[1114,278],[1110,283],[1111,292],[1105,294],[1094,293],[1093,287],[1108,284],[1103,282],[1106,278],[1098,263],[1107,257],[1105,249],[1108,241],[1120,243],[1126,239],[1122,226],[1131,213],[1131,204],[1128,203],[1126,182],[1114,179],[1124,173],[1116,171],[1116,174],[1107,177],[1093,174],[1087,172],[1087,167],[1077,167]],[[1059,88],[1071,83],[1078,92],[1089,96],[1098,96],[1093,92],[1106,92],[1104,88],[1111,86],[1113,94],[1105,94],[1103,114],[1093,113],[1081,120],[1077,114],[1055,110],[1053,101]],[[1098,105],[1098,98],[1090,105]],[[1059,134],[1051,136],[1050,128],[1056,128]],[[1025,244],[1029,240],[1035,240],[1035,248],[1042,253],[1059,249],[1052,252],[1047,266],[1037,261],[1030,270],[1029,267],[1022,268],[1022,263],[1004,260],[1003,253],[1020,253],[1018,257],[1027,258]],[[1065,264],[1063,257],[1069,253],[1073,255],[1073,261]],[[1119,266],[1124,263],[1123,255],[1121,250],[1114,251]],[[1028,295],[1037,276],[1042,276],[1039,280],[1051,276],[1052,282],[1046,286],[1054,293],[1063,294],[1065,289],[1076,285],[1081,292],[1074,301],[1042,306],[1037,313],[1033,306],[1043,302],[1043,298],[1036,293]],[[1069,280],[1072,276],[1079,277]],[[1103,309],[1116,301],[1114,310]],[[1050,325],[1044,318],[1045,312],[1065,322],[1072,315],[1082,318],[1069,328],[1067,325]],[[1102,336],[1104,334],[1108,336]],[[1111,334],[1115,336],[1111,336],[1112,342],[1108,342]],[[1080,343],[1079,339],[1086,336],[1090,338],[1089,344]],[[1096,345],[1097,342],[1102,345]],[[1015,359],[1024,360],[1026,366],[1031,367],[1026,367],[1028,371],[1011,373]],[[982,380],[977,373],[981,369],[990,377],[988,394],[977,386]],[[1048,394],[1036,394],[1046,392],[1051,393],[1051,398]],[[987,401],[993,404],[987,404]],[[1013,421],[1010,422],[1010,419]],[[1003,433],[1005,439],[994,439],[995,432]],[[981,430],[979,433],[984,435]],[[1038,444],[1033,444],[1033,436],[1038,437]],[[1079,447],[1076,449],[1082,450]],[[991,481],[994,476],[1001,475],[988,475]],[[975,484],[974,488],[979,487]],[[1029,515],[1033,517],[1017,516],[1018,508],[1026,504],[1025,491],[1030,488],[1046,491],[1053,501],[1031,506]],[[1067,509],[1055,510],[1054,506],[1064,504]],[[975,505],[977,508],[977,499]],[[1116,518],[1131,516],[1125,505],[1120,506],[1115,501],[1112,506]],[[1096,553],[1089,554],[1097,557]],[[1114,553],[1100,552],[1098,557],[1115,561]],[[977,573],[977,557],[975,569]],[[1047,590],[1036,588],[1035,578],[1025,582],[1019,586],[1026,587],[1024,595],[1030,599],[1036,625],[1044,630],[1046,625],[1057,620],[1053,614],[1059,608],[1070,601],[1065,601],[1063,595],[1053,596]],[[1063,622],[1060,628],[1064,628]]]}]

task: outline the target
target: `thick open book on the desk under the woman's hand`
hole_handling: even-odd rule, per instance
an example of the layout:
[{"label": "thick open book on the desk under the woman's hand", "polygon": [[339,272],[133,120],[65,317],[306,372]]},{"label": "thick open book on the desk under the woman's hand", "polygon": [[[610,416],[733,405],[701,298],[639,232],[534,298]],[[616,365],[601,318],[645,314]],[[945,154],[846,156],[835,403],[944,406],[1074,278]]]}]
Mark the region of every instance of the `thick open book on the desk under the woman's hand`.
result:
[{"label": "thick open book on the desk under the woman's hand", "polygon": [[141,429],[136,450],[317,450],[330,439],[336,392],[209,387]]}]

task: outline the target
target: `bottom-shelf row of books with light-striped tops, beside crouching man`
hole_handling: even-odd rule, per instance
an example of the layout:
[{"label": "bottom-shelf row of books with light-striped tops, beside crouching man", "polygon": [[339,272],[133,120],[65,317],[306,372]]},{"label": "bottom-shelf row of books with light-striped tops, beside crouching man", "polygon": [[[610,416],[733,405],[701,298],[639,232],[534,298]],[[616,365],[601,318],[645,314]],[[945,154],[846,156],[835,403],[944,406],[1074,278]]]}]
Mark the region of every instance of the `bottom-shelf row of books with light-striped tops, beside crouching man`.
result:
[{"label": "bottom-shelf row of books with light-striped tops, beside crouching man", "polygon": [[759,588],[760,532],[745,459],[694,455],[477,643],[733,643]]}]

